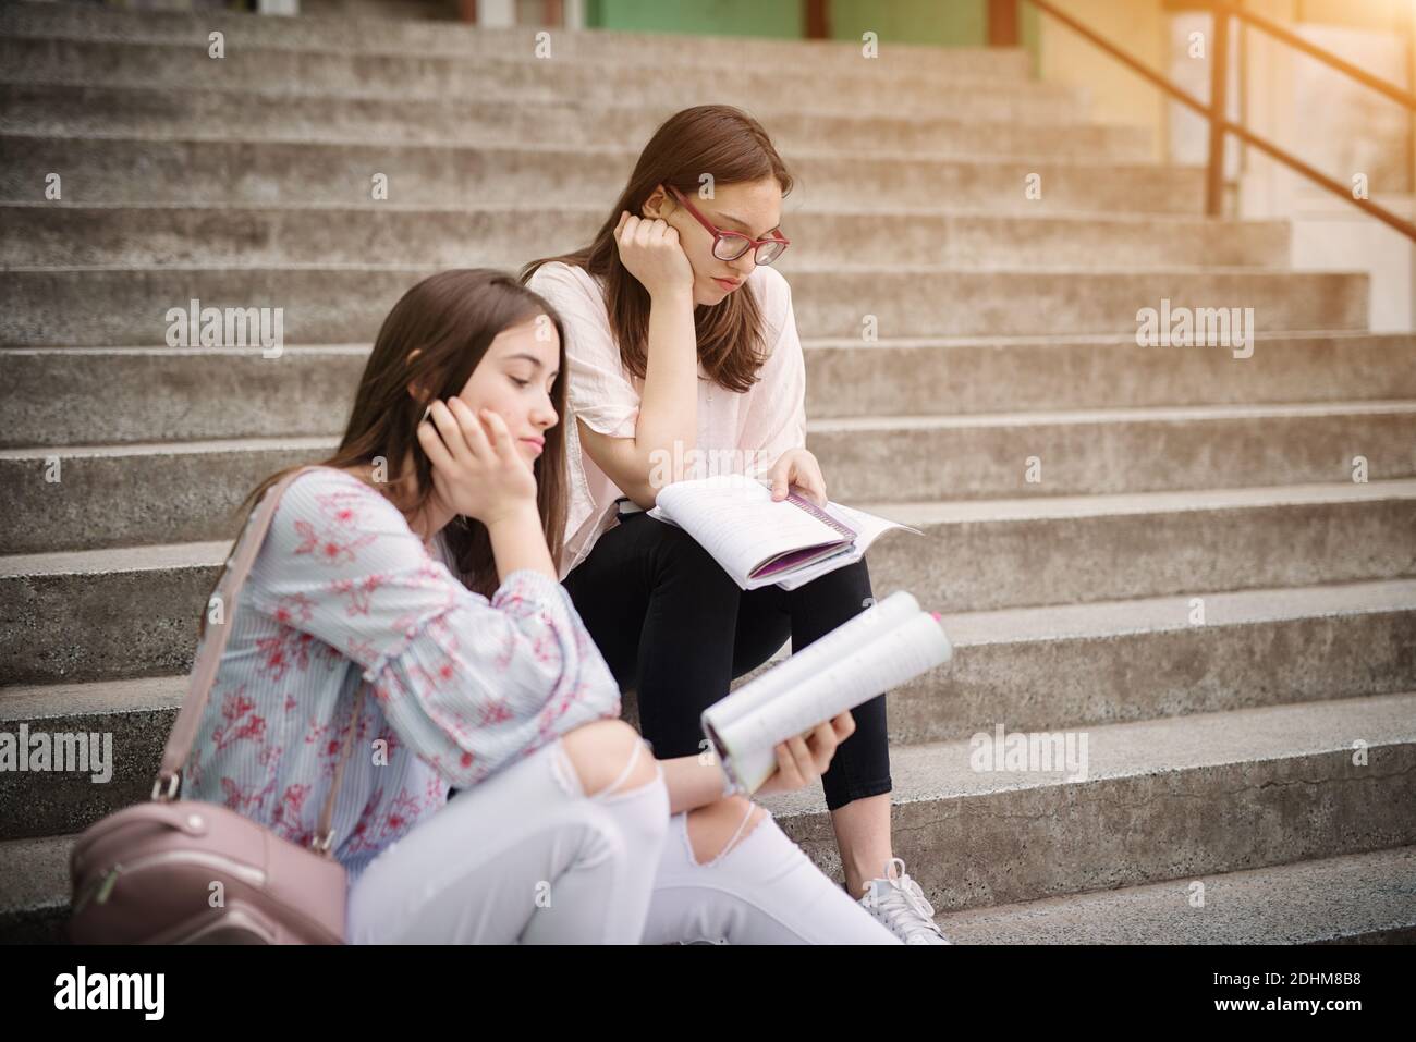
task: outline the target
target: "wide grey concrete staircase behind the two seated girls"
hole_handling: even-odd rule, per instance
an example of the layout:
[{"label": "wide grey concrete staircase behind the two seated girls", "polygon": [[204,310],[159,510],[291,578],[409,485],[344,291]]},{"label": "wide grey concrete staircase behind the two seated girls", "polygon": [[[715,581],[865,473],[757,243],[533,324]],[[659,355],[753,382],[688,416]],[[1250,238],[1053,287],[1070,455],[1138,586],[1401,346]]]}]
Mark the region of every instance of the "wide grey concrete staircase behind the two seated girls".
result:
[{"label": "wide grey concrete staircase behind the two seated girls", "polygon": [[[1199,170],[1018,52],[552,47],[0,7],[0,729],[118,755],[108,784],[0,774],[0,934],[58,937],[71,837],[147,796],[231,510],[333,445],[398,294],[579,245],[660,119],[726,101],[800,176],[809,445],[834,498],[925,531],[871,552],[877,595],[956,643],[891,701],[896,847],[946,929],[1416,939],[1416,338],[1366,331],[1366,277],[1204,219]],[[289,345],[166,347],[191,297],[283,306]],[[1137,347],[1163,297],[1255,307],[1253,357]],[[970,770],[995,723],[1085,732],[1087,777]],[[818,791],[770,806],[838,871]]]}]

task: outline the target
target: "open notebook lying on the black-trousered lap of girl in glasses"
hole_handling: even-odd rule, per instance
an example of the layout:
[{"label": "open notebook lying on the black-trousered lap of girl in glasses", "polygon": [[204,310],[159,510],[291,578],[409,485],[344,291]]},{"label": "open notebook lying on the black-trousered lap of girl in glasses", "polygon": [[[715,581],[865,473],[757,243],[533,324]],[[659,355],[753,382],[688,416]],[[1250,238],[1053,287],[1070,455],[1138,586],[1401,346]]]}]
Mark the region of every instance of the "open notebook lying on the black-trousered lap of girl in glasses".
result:
[{"label": "open notebook lying on the black-trousered lap of girl in glasses", "polygon": [[794,590],[860,561],[891,528],[922,535],[840,503],[817,507],[794,491],[773,501],[769,481],[742,474],[675,481],[649,515],[692,535],[745,590],[772,583]]}]

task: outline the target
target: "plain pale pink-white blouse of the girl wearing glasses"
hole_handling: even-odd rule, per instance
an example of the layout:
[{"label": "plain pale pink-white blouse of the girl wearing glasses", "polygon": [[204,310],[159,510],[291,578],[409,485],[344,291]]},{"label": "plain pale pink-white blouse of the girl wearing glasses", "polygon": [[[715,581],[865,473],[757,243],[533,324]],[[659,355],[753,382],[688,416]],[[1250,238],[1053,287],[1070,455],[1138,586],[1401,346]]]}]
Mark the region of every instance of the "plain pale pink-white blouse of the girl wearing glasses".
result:
[{"label": "plain pale pink-white blouse of the girl wearing glasses", "polygon": [[[527,282],[544,296],[565,324],[569,368],[566,460],[571,505],[561,554],[561,579],[579,565],[596,539],[619,520],[615,500],[624,493],[581,452],[575,419],[610,437],[633,437],[644,381],[630,377],[620,362],[610,331],[603,283],[583,268],[561,262],[542,265]],[[728,391],[698,365],[698,452],[685,456],[688,477],[711,473],[766,473],[787,449],[806,447],[806,361],[792,311],[792,287],[775,268],[758,266],[738,293],[752,292],[763,317],[772,354],[758,382],[743,392]],[[664,459],[664,469],[670,460]]]}]

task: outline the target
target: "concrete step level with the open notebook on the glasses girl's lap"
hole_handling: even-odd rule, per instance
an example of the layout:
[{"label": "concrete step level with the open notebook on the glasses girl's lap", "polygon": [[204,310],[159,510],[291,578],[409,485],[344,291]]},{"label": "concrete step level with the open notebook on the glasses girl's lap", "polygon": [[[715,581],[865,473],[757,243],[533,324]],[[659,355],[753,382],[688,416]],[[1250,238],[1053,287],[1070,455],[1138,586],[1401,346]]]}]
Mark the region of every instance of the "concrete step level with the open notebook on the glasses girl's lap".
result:
[{"label": "concrete step level with the open notebook on the glasses girl's lap", "polygon": [[[923,532],[895,532],[871,549],[875,589],[909,589],[954,612],[1416,573],[1409,481],[864,505]],[[1038,561],[1037,545],[1068,552]],[[1276,558],[1260,552],[1264,545],[1306,556]],[[3,637],[16,675],[40,682],[185,670],[193,620],[228,549],[205,542],[0,558],[14,605]],[[82,643],[67,636],[74,619],[86,627]]]}]

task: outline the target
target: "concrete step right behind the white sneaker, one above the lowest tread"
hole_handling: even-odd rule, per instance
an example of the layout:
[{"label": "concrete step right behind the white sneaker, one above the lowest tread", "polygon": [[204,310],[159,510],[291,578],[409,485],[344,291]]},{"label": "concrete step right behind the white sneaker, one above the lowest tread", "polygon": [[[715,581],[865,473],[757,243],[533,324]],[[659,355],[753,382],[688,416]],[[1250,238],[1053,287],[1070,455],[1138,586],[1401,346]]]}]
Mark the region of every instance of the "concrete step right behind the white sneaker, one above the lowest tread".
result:
[{"label": "concrete step right behind the white sneaker, one above the lowest tread", "polygon": [[[1014,732],[1021,725],[1007,722]],[[1416,842],[1416,694],[1089,728],[1087,779],[892,749],[893,847],[939,912]],[[1078,736],[1075,739],[1080,742]],[[1366,763],[1358,765],[1354,743]],[[841,881],[816,789],[762,800]]]}]

